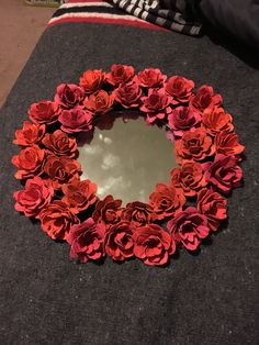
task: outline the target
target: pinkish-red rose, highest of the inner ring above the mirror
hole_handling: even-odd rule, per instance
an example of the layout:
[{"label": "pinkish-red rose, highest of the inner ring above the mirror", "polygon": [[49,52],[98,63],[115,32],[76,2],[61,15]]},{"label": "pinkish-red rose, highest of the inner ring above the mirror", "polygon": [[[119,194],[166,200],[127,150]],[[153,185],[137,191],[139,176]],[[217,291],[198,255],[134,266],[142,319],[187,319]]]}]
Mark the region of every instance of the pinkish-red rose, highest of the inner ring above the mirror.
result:
[{"label": "pinkish-red rose, highest of the inner ring above the mirror", "polygon": [[125,109],[136,108],[140,104],[142,89],[137,84],[121,84],[113,91],[115,100]]}]

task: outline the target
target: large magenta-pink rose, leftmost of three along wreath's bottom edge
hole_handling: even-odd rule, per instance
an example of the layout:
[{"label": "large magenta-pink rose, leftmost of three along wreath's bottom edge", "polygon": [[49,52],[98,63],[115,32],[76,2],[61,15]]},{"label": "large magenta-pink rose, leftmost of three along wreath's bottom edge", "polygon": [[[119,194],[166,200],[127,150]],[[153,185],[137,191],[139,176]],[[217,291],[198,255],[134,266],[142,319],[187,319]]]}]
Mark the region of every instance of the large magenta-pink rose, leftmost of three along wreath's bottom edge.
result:
[{"label": "large magenta-pink rose, leftmost of three along wreath's bottom edge", "polygon": [[70,244],[70,258],[87,263],[105,256],[104,251],[105,226],[95,224],[92,218],[83,223],[74,225],[67,236]]}]

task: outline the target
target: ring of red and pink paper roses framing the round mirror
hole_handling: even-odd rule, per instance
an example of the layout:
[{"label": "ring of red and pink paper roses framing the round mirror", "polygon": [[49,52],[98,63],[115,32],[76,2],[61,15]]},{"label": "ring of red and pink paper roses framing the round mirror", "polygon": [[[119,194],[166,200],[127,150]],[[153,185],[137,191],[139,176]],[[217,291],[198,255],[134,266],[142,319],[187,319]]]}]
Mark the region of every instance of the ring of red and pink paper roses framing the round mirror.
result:
[{"label": "ring of red and pink paper roses framing the round mirror", "polygon": [[[168,183],[156,185],[148,203],[124,208],[111,194],[100,200],[97,185],[80,180],[79,134],[93,134],[100,119],[115,120],[116,109],[137,110],[174,142],[179,167]],[[221,94],[206,85],[194,91],[181,76],[168,78],[157,68],[135,74],[126,65],[87,70],[79,85],[59,85],[54,101],[33,103],[27,114],[31,122],[13,142],[21,146],[12,158],[15,178],[25,185],[14,192],[15,210],[38,220],[50,238],[66,241],[81,263],[135,256],[161,266],[178,247],[195,251],[227,218],[223,194],[241,185],[245,147]]]}]

